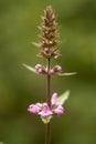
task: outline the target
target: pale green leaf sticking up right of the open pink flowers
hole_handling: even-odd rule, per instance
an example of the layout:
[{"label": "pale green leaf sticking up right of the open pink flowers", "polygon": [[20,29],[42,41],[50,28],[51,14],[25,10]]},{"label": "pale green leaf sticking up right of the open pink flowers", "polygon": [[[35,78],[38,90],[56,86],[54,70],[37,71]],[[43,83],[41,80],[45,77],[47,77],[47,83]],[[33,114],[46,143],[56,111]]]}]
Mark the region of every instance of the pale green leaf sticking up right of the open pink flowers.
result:
[{"label": "pale green leaf sticking up right of the open pink flowers", "polygon": [[70,96],[70,91],[66,91],[56,99],[56,102],[58,102],[61,105],[63,105],[65,103],[65,101],[68,99],[68,96]]}]

